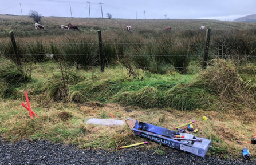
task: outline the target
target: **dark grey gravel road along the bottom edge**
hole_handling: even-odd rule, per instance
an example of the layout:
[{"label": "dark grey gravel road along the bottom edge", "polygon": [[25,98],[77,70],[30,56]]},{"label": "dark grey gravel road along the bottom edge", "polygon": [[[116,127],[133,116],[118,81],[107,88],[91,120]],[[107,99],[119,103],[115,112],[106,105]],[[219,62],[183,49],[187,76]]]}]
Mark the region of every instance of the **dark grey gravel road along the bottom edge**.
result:
[{"label": "dark grey gravel road along the bottom edge", "polygon": [[167,154],[157,155],[155,151],[136,148],[108,152],[82,150],[46,140],[21,140],[11,144],[0,139],[0,164],[256,164],[256,160],[200,158],[172,148]]}]

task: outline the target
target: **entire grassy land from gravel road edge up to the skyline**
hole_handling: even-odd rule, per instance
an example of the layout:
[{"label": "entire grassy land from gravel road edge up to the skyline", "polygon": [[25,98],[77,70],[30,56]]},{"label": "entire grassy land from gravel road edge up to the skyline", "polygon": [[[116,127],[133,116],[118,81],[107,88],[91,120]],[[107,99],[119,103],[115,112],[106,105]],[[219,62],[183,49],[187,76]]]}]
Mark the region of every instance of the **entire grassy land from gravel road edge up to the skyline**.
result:
[{"label": "entire grassy land from gravel road edge up to the skyline", "polygon": [[[115,119],[132,118],[169,129],[196,120],[194,127],[199,132],[195,136],[212,140],[208,154],[238,157],[242,148],[256,154],[252,144],[237,144],[238,140],[250,142],[256,132],[255,30],[234,29],[253,28],[255,24],[44,17],[42,23],[51,30],[34,33],[33,22],[27,17],[0,18],[3,138],[49,139],[111,150],[143,142],[127,126],[84,124],[88,118],[111,118],[113,114]],[[22,25],[24,22],[26,25]],[[88,33],[64,33],[59,26],[67,22]],[[99,54],[97,33],[92,30],[123,30],[127,24],[135,27],[133,33],[103,31],[105,72],[85,67],[99,65],[98,57],[92,56]],[[202,70],[205,31],[160,30],[165,26],[198,29],[201,25],[231,28],[212,29],[206,70]],[[15,63],[9,30],[30,31],[14,32],[22,66]],[[21,106],[26,100],[25,91],[38,118],[30,119]],[[127,108],[132,112],[126,112]],[[212,120],[204,121],[203,115]],[[160,154],[169,150],[153,142],[141,148]]]}]

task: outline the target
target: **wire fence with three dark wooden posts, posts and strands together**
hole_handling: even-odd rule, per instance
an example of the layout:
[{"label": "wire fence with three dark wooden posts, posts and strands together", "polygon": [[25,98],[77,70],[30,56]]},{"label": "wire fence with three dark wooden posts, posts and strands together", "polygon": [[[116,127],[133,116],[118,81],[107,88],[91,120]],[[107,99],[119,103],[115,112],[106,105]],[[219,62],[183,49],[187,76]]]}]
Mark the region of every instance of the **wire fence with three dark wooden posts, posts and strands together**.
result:
[{"label": "wire fence with three dark wooden posts, posts and strands together", "polygon": [[[227,30],[226,29],[216,29],[216,30]],[[234,29],[234,28],[233,28]],[[256,29],[256,28],[250,28],[250,29]],[[198,29],[172,29],[172,30],[198,30]],[[240,30],[240,29],[239,29]],[[125,30],[103,30],[103,31],[125,31]],[[156,31],[156,30],[134,30],[134,31]],[[210,31],[210,32],[209,32]],[[65,31],[65,33],[68,33],[69,31]],[[85,31],[72,31],[76,33],[84,33]],[[98,35],[101,35],[101,30],[98,30]],[[6,32],[0,32],[0,33],[6,33]],[[51,31],[15,31],[15,33],[52,33]],[[16,43],[14,33],[10,33],[11,35],[11,41],[12,46],[14,49],[14,54],[0,54],[0,55],[15,55],[15,60],[18,64],[20,64],[21,58],[19,56],[39,56],[39,55],[45,55],[46,57],[60,57],[60,56],[87,56],[87,57],[97,57],[99,58],[98,65],[66,65],[65,67],[100,67],[101,71],[104,71],[104,66],[107,67],[124,67],[120,65],[109,65],[104,63],[103,57],[202,57],[202,67],[190,67],[190,69],[205,69],[207,65],[207,61],[210,57],[216,57],[214,54],[209,54],[209,46],[210,45],[220,45],[222,43],[220,42],[210,42],[210,34],[211,34],[211,28],[209,27],[206,32],[206,42],[151,42],[151,43],[103,43],[103,40],[101,37],[99,37],[99,43]],[[13,35],[12,35],[13,34]],[[103,53],[103,47],[102,45],[170,45],[170,44],[182,44],[182,45],[202,45],[204,46],[204,53],[203,54],[170,54],[170,55],[151,55],[151,54],[104,54]],[[227,44],[256,44],[256,42],[229,42]],[[6,45],[6,43],[0,43],[0,45]],[[99,54],[22,54],[18,53],[17,45],[99,45]],[[221,55],[221,57],[230,57],[230,55]],[[247,57],[256,57],[256,55],[235,55],[237,58],[247,58]],[[49,66],[49,65],[48,65]],[[58,67],[58,65],[51,65],[53,67]],[[188,67],[175,67],[175,66],[135,66],[138,69],[152,69],[152,68],[164,68],[164,69],[188,69]]]}]

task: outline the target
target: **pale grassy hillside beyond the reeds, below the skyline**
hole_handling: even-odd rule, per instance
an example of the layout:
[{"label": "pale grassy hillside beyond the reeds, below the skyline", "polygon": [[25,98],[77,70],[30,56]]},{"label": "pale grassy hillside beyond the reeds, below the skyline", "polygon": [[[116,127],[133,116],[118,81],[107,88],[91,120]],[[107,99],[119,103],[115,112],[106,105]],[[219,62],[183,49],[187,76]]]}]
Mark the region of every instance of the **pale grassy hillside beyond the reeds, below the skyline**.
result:
[{"label": "pale grassy hillside beyond the reeds, below the skyline", "polygon": [[[78,25],[81,30],[124,30],[132,26],[133,30],[161,30],[171,26],[172,29],[199,29],[200,26],[210,26],[213,29],[224,28],[255,28],[256,23],[241,23],[218,21],[210,19],[100,19],[100,18],[65,18],[43,17],[40,22],[45,30],[60,29],[61,25]],[[0,15],[0,31],[34,30],[34,21],[27,16]]]}]

